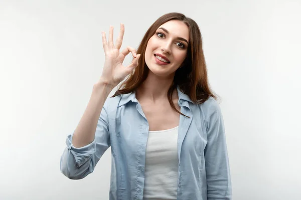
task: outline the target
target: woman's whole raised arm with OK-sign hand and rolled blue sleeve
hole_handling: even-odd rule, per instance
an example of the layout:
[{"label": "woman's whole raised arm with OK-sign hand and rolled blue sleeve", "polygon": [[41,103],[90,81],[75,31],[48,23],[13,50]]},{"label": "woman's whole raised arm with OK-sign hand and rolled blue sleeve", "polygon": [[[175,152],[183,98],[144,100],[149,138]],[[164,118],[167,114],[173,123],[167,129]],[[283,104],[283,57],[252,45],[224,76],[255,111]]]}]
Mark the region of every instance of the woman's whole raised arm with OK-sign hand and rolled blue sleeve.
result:
[{"label": "woman's whole raised arm with OK-sign hand and rolled blue sleeve", "polygon": [[[94,85],[88,106],[73,134],[66,140],[67,148],[61,156],[61,172],[71,179],[81,179],[93,172],[96,163],[110,144],[108,116],[104,103],[111,90],[117,86],[137,66],[140,54],[127,47],[120,52],[124,25],[120,24],[119,37],[113,44],[113,27],[109,40],[102,32],[105,62],[100,81]],[[127,67],[122,65],[125,56],[132,53],[134,59]]]}]

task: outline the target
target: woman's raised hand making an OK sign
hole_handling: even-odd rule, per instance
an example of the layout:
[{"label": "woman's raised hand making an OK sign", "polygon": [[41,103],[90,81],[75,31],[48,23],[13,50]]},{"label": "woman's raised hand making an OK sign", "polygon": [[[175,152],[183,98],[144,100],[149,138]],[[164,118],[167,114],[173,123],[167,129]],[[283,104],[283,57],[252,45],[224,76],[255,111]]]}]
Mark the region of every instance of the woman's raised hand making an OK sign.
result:
[{"label": "woman's raised hand making an OK sign", "polygon": [[[125,48],[122,52],[120,47],[122,45],[124,35],[124,25],[120,24],[119,37],[114,45],[113,43],[113,27],[109,30],[109,40],[107,42],[105,32],[102,32],[102,44],[105,53],[105,62],[102,70],[101,81],[109,84],[112,87],[117,86],[131,71],[138,66],[140,54],[136,55],[136,50],[132,47]],[[129,53],[132,53],[134,59],[127,66],[122,65],[124,58]]]}]

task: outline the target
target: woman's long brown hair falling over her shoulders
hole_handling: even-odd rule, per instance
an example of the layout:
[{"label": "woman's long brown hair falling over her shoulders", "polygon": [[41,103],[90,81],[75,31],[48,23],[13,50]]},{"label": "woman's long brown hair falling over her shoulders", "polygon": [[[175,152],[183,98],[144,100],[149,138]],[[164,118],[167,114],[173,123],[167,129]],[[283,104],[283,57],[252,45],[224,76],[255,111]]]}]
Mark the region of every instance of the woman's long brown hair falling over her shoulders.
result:
[{"label": "woman's long brown hair falling over her shoulders", "polygon": [[127,79],[119,86],[119,89],[112,97],[135,91],[146,79],[149,71],[144,58],[147,42],[162,24],[165,24],[170,20],[179,20],[184,22],[188,26],[190,34],[186,59],[182,67],[177,69],[173,84],[169,88],[167,94],[170,105],[176,112],[184,115],[176,109],[172,101],[172,94],[177,88],[177,85],[180,90],[184,94],[188,95],[196,104],[204,103],[210,96],[217,99],[211,91],[208,83],[202,35],[199,26],[194,20],[187,18],[181,13],[166,14],[160,17],[152,26],[149,27],[137,49],[137,54],[141,54],[138,66],[129,74]]}]

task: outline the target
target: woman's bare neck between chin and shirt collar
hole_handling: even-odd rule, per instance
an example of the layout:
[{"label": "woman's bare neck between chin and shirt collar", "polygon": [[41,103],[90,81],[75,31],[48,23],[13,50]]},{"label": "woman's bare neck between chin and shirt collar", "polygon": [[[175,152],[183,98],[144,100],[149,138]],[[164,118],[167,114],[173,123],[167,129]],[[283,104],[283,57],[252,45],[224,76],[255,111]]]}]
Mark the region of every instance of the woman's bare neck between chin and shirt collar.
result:
[{"label": "woman's bare neck between chin and shirt collar", "polygon": [[[167,100],[167,93],[171,85],[173,84],[174,76],[171,77],[159,77],[149,71],[145,81],[137,88],[136,98],[147,99],[153,103],[157,101]],[[177,95],[177,92],[173,94]]]}]

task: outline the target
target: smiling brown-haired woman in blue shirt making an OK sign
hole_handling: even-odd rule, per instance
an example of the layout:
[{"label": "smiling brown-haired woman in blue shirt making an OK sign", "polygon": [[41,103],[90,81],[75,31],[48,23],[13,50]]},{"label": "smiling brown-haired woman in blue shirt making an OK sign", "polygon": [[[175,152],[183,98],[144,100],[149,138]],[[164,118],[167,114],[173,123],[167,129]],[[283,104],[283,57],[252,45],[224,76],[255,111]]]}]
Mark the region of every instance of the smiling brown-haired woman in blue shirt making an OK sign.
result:
[{"label": "smiling brown-haired woman in blue shirt making an OK sign", "polygon": [[[231,199],[223,119],[208,86],[197,24],[166,14],[137,51],[119,53],[123,34],[121,24],[114,45],[113,28],[108,42],[102,33],[103,72],[67,137],[62,173],[84,178],[111,147],[110,199]],[[134,59],[123,67],[129,53]]]}]

